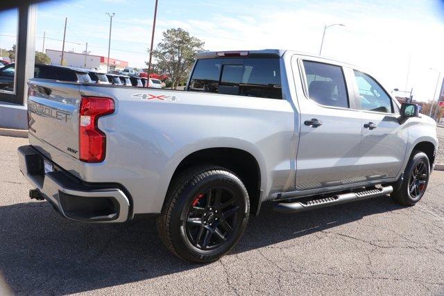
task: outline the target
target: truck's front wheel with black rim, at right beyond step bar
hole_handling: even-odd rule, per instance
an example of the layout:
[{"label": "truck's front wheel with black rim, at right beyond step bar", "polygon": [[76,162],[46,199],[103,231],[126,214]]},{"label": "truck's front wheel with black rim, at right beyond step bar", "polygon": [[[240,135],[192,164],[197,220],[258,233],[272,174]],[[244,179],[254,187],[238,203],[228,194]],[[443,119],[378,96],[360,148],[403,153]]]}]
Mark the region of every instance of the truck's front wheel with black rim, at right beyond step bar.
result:
[{"label": "truck's front wheel with black rim, at right beyond step bar", "polygon": [[413,206],[424,196],[429,184],[429,157],[421,151],[413,151],[404,171],[399,190],[391,193],[392,198],[399,204]]}]

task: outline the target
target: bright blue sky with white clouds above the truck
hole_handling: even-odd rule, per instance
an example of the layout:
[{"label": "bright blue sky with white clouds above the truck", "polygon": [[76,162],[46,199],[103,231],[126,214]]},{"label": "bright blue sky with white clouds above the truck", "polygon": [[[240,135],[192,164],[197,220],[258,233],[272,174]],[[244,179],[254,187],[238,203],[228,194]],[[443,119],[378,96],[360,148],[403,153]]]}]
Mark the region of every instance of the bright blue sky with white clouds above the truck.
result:
[{"label": "bright blue sky with white clouds above the truck", "polygon": [[[151,42],[154,0],[49,1],[37,8],[36,49],[108,54],[130,67],[144,67]],[[15,13],[0,12],[0,47],[15,43]],[[184,28],[210,51],[292,49],[357,64],[390,92],[410,91],[418,101],[433,98],[438,71],[444,76],[443,0],[159,0],[155,44],[167,28]],[[10,35],[10,36],[5,36]],[[55,40],[54,40],[55,39]],[[431,70],[434,68],[435,70]],[[398,93],[402,96],[402,93]]]}]

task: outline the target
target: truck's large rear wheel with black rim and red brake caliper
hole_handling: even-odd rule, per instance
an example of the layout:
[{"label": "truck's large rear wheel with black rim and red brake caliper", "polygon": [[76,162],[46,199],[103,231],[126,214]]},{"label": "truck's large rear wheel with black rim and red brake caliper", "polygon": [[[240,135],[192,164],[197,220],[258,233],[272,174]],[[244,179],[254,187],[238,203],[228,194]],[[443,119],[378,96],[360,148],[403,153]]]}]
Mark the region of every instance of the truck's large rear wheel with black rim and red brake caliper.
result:
[{"label": "truck's large rear wheel with black rim and red brake caliper", "polygon": [[157,229],[181,259],[207,263],[236,245],[249,211],[248,192],[234,173],[217,166],[191,168],[172,181]]}]

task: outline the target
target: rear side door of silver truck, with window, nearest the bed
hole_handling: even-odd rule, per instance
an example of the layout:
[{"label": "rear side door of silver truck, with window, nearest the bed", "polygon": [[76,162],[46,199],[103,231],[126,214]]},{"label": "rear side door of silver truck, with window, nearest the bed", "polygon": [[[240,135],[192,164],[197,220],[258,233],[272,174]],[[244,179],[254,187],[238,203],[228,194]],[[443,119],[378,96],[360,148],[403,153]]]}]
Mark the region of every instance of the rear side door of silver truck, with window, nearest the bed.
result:
[{"label": "rear side door of silver truck, with window, nearest the bed", "polygon": [[296,190],[363,181],[358,174],[361,112],[356,110],[354,89],[345,80],[350,69],[316,58],[299,58],[297,65],[294,60],[303,85],[298,94]]}]

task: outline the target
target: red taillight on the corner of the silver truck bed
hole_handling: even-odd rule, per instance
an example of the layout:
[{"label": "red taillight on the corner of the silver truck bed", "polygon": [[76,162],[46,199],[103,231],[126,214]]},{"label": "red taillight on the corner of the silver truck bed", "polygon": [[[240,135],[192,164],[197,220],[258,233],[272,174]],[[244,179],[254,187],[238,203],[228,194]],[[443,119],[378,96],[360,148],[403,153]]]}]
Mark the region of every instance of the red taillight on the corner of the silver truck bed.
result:
[{"label": "red taillight on the corner of the silver truck bed", "polygon": [[110,98],[82,97],[80,103],[79,156],[82,162],[103,162],[106,152],[106,136],[99,130],[100,116],[114,112]]}]

